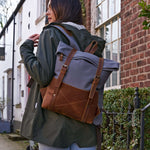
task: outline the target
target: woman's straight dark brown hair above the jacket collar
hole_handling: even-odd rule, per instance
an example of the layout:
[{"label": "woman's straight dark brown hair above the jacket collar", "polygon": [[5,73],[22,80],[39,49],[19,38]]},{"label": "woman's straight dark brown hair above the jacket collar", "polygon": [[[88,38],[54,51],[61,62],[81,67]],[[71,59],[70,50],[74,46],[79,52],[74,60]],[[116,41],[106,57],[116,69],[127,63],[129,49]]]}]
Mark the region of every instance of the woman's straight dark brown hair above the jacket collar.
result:
[{"label": "woman's straight dark brown hair above the jacket collar", "polygon": [[74,22],[83,24],[80,0],[51,0],[56,22]]}]

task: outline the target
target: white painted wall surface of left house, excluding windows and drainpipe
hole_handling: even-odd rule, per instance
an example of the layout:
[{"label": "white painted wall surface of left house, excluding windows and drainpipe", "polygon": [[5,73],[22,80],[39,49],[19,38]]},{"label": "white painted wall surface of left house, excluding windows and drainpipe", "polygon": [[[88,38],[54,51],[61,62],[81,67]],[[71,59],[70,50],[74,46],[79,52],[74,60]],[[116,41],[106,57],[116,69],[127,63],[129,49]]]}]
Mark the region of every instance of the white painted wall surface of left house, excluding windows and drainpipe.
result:
[{"label": "white painted wall surface of left house, excluding windows and drainpipe", "polygon": [[[21,91],[24,91],[24,96],[21,97],[21,108],[16,108],[14,106],[14,120],[21,121],[23,113],[25,110],[25,105],[28,97],[28,88],[27,80],[28,74],[25,70],[24,65],[19,63],[21,61],[19,47],[20,45],[32,34],[41,33],[42,28],[45,25],[45,17],[37,23],[37,4],[38,0],[26,0],[22,7],[22,37],[18,41],[17,32],[18,32],[18,15],[16,16],[16,25],[15,25],[15,59],[14,59],[14,104],[18,103],[17,95],[17,67],[21,65]],[[29,17],[30,13],[30,17]],[[30,24],[30,29],[28,26]],[[0,43],[3,43],[3,39],[0,40]],[[8,68],[12,68],[12,44],[13,44],[13,22],[6,31],[6,60],[0,61],[0,97],[2,97],[2,77],[5,77],[5,99],[7,97],[7,74],[4,73]],[[35,50],[36,51],[36,50]],[[4,109],[4,119],[7,120],[7,108]]]}]

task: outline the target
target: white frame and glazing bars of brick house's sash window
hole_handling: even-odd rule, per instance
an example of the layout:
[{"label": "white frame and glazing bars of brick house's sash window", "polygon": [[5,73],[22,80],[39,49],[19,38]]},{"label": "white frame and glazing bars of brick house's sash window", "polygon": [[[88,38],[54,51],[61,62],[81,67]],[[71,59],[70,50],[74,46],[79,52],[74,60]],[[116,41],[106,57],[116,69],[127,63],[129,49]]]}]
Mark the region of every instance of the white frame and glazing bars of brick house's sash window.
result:
[{"label": "white frame and glazing bars of brick house's sash window", "polygon": [[[112,59],[112,43],[114,43],[115,41],[118,41],[118,50],[117,50],[117,62],[120,63],[120,53],[121,53],[121,19],[120,19],[120,12],[116,12],[114,10],[114,14],[111,15],[109,17],[109,0],[99,0],[100,3],[99,4],[96,4],[96,9],[97,9],[97,16],[96,16],[96,27],[95,27],[95,30],[100,33],[100,29],[103,27],[104,28],[104,39],[105,39],[105,33],[106,33],[106,25],[108,23],[110,23],[110,26],[111,26],[111,29],[112,29],[112,24],[113,24],[113,20],[114,19],[117,19],[117,22],[118,22],[118,38],[116,40],[113,40],[112,41],[112,30],[111,30],[111,39],[110,39],[110,42],[108,43],[106,41],[106,46],[107,45],[110,45],[110,59]],[[105,1],[107,1],[107,19],[105,19],[103,21],[103,15],[102,15],[102,20],[101,22],[98,24],[98,17],[99,17],[99,14],[98,14],[98,7],[101,7],[101,4],[104,3]],[[114,2],[116,2],[117,0],[114,0]],[[121,0],[120,0],[121,1]],[[98,2],[98,0],[97,0]],[[114,7],[116,6],[116,4],[114,4]],[[115,8],[114,8],[115,9]],[[120,21],[120,22],[119,22]],[[104,58],[106,58],[106,47],[104,49]],[[113,77],[113,74],[110,75],[109,79],[110,79],[110,86],[109,87],[106,87],[107,84],[105,84],[105,89],[106,90],[110,90],[110,89],[120,89],[121,88],[121,83],[120,83],[120,70],[117,71],[117,85],[114,85],[112,86],[112,77]],[[108,82],[108,81],[107,81]]]}]

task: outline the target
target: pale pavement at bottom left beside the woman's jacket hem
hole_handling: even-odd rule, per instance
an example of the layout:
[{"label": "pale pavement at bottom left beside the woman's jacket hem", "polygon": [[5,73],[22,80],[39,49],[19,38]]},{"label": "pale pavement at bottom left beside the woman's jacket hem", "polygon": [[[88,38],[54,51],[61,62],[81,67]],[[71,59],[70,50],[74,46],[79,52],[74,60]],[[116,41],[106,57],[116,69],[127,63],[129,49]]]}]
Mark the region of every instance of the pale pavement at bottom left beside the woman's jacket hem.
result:
[{"label": "pale pavement at bottom left beside the woman's jacket hem", "polygon": [[0,134],[0,150],[26,150],[28,140],[13,141],[8,138],[10,134]]}]

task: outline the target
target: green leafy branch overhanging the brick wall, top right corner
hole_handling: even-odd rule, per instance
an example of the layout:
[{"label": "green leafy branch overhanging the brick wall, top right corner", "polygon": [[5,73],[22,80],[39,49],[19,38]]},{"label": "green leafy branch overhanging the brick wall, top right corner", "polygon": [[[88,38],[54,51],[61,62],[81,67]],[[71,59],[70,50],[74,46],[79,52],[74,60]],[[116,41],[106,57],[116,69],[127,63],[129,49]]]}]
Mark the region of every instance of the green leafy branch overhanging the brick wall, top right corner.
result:
[{"label": "green leafy branch overhanging the brick wall, top right corner", "polygon": [[141,7],[141,11],[139,14],[139,17],[146,17],[146,20],[143,21],[143,29],[149,29],[150,28],[150,5],[147,5],[144,0],[141,0],[139,2],[139,5]]}]

